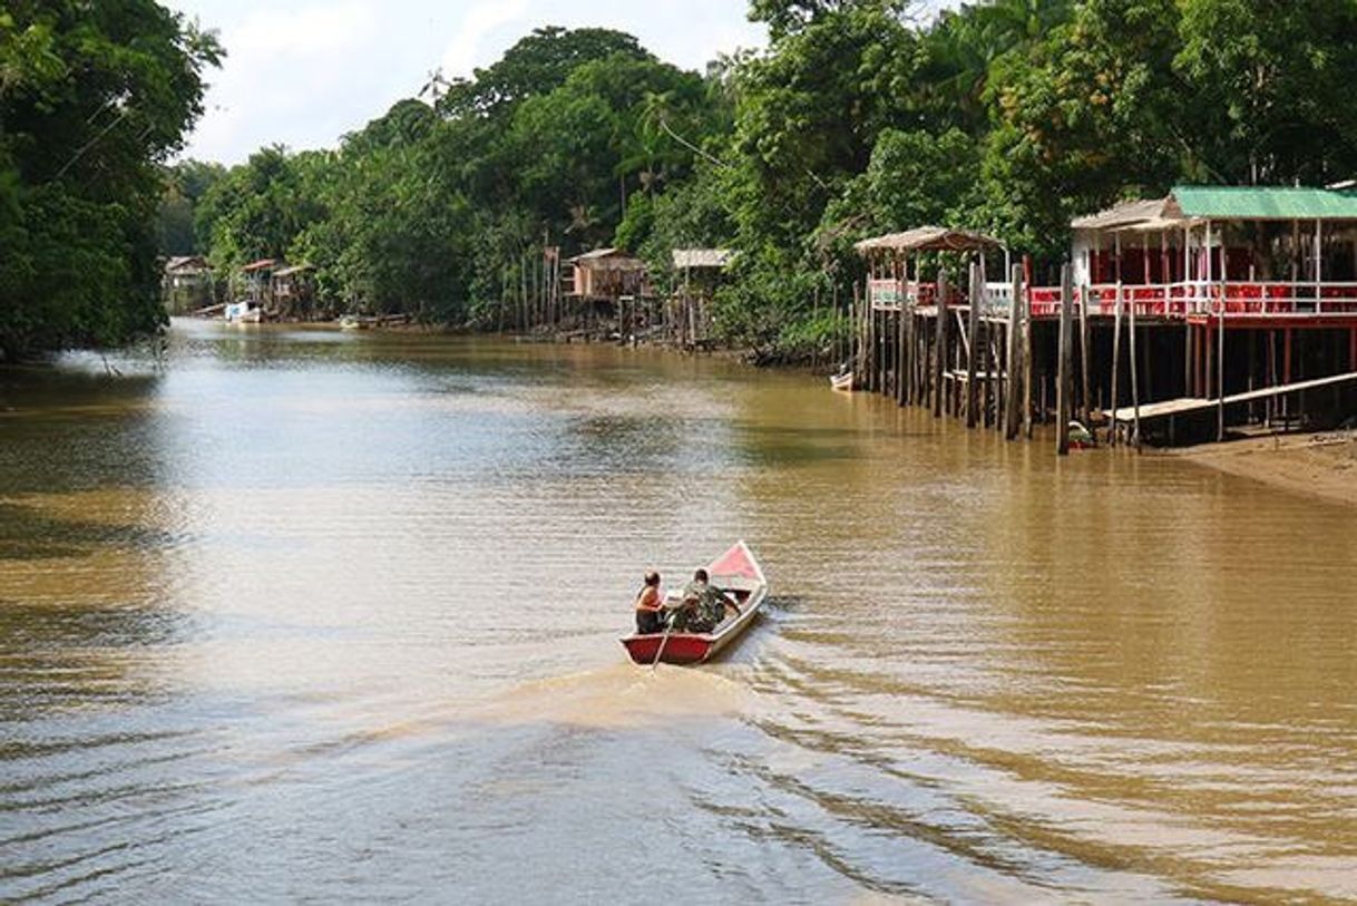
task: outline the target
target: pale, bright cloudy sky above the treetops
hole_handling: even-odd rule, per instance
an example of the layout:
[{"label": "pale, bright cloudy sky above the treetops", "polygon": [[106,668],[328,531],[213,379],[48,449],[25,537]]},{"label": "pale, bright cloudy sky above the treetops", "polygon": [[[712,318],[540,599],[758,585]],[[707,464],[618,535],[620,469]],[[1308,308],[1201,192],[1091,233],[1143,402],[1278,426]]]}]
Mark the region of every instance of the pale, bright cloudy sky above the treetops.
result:
[{"label": "pale, bright cloudy sky above the treetops", "polygon": [[718,53],[761,48],[742,0],[161,0],[218,33],[206,113],[183,156],[227,164],[255,149],[332,148],[436,69],[467,76],[532,29],[607,26],[661,60],[702,69]]}]

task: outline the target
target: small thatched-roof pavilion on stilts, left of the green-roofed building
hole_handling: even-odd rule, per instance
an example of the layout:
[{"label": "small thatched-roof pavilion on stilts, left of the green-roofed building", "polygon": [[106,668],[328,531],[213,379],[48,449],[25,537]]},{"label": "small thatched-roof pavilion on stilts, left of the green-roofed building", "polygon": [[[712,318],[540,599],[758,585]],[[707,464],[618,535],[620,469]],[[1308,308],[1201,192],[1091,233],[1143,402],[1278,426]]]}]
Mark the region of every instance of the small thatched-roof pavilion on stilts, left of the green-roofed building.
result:
[{"label": "small thatched-roof pavilion on stilts, left of the green-roofed building", "polygon": [[[855,249],[867,261],[858,383],[901,406],[931,402],[935,414],[965,412],[972,424],[981,413],[997,418],[992,353],[1003,342],[1001,326],[984,329],[982,322],[987,306],[1003,299],[987,297],[984,274],[987,255],[1007,259],[1003,243],[965,230],[917,227],[864,239]],[[959,292],[949,283],[947,264],[961,265]],[[925,266],[932,281],[924,278]]]}]

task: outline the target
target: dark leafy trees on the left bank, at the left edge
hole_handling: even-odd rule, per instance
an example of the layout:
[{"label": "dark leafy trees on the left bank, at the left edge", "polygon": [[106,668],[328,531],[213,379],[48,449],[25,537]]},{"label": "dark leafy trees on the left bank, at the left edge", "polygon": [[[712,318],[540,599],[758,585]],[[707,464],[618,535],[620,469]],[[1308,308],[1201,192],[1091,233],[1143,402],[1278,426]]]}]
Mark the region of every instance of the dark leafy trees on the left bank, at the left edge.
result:
[{"label": "dark leafy trees on the left bank, at the left edge", "polygon": [[160,164],[218,58],[151,0],[0,11],[0,359],[161,323]]}]

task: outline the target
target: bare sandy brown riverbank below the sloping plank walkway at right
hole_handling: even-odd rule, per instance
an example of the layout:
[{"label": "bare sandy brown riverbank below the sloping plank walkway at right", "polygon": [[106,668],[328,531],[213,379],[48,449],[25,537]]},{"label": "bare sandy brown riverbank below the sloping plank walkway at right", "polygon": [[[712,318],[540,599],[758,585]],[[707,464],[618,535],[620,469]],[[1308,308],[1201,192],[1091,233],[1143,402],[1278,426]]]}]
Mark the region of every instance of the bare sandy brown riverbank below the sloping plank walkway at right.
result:
[{"label": "bare sandy brown riverbank below the sloping plank walkway at right", "polygon": [[1167,455],[1311,497],[1357,507],[1357,432],[1250,437]]}]

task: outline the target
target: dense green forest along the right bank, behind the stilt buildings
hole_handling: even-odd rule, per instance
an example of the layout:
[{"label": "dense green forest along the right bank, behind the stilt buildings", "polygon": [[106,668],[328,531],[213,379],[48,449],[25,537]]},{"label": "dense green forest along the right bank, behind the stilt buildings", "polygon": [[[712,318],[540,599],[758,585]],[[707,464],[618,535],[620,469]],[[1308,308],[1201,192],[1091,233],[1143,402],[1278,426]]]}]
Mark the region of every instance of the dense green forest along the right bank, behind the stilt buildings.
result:
[{"label": "dense green forest along the right bank, behind the stilt buildings", "polygon": [[866,236],[974,230],[1049,280],[1071,220],[1120,200],[1357,175],[1348,0],[748,8],[767,49],[704,72],[620,31],[541,27],[334,149],[175,164],[161,253],[227,284],[308,268],[323,316],[497,331],[598,302],[552,295],[575,255],[623,250],[665,300],[687,289],[674,251],[727,250],[703,287],[710,338],[828,363],[851,348]]}]

